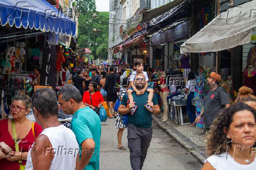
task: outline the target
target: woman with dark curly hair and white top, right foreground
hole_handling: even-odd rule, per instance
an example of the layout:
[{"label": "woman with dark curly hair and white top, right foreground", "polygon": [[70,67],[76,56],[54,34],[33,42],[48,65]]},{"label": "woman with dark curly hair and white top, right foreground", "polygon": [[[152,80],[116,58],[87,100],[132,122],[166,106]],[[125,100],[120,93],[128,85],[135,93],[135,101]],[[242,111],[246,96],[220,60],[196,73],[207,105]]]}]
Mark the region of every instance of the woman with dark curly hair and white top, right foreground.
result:
[{"label": "woman with dark curly hair and white top, right foreground", "polygon": [[255,169],[256,113],[244,103],[233,104],[215,118],[207,137],[204,169]]}]

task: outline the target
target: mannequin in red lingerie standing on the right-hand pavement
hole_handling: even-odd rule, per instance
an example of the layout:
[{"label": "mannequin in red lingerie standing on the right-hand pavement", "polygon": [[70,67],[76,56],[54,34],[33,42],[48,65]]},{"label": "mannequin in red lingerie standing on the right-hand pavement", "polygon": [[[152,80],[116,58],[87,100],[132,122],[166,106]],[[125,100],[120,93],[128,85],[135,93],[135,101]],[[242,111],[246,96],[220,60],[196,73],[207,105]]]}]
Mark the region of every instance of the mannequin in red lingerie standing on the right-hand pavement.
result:
[{"label": "mannequin in red lingerie standing on the right-hand pavement", "polygon": [[164,114],[163,114],[163,117],[161,118],[161,120],[164,122],[164,121],[167,121],[168,120],[168,104],[167,104],[167,96],[168,94],[170,93],[170,90],[167,88],[166,86],[166,73],[164,72],[161,72],[161,76],[160,76],[160,88],[161,88],[161,91],[160,91],[160,97],[161,97],[161,100],[163,101],[163,107],[164,107]]}]

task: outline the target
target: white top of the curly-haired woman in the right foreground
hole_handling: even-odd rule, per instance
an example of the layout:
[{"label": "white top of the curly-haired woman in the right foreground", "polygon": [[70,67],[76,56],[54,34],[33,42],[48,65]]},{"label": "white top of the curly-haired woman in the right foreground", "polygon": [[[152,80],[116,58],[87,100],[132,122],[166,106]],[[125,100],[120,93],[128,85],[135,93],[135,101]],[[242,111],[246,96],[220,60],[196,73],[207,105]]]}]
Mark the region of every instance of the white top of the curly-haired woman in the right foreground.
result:
[{"label": "white top of the curly-haired woman in the right foreground", "polygon": [[248,165],[242,165],[238,162],[235,162],[235,160],[228,154],[228,157],[226,159],[226,154],[220,154],[220,155],[211,155],[211,157],[206,159],[207,162],[213,166],[216,170],[255,170],[256,169],[256,159],[254,159],[251,164]]}]

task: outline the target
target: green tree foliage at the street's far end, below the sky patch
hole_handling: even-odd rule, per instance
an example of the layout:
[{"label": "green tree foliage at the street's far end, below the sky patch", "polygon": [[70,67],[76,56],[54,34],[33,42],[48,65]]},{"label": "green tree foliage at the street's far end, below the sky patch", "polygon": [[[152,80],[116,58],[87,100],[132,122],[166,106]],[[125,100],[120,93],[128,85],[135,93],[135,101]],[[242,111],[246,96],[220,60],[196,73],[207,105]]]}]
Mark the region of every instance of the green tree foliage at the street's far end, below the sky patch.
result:
[{"label": "green tree foliage at the street's far end, below the sky patch", "polygon": [[97,18],[92,18],[92,15],[80,16],[78,46],[89,47],[95,59],[107,59],[109,12],[96,12],[96,14]]}]

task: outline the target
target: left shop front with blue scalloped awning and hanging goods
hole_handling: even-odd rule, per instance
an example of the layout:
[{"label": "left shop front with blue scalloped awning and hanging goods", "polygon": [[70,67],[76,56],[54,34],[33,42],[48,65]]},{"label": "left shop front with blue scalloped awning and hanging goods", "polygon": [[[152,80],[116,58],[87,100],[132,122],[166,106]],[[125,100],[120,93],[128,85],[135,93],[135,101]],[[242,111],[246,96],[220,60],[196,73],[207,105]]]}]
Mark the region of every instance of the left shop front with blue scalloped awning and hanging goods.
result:
[{"label": "left shop front with blue scalloped awning and hanging goods", "polygon": [[18,91],[32,94],[33,85],[55,89],[58,66],[68,55],[59,35],[74,36],[76,23],[45,0],[2,0],[0,21],[1,111],[8,113]]}]

